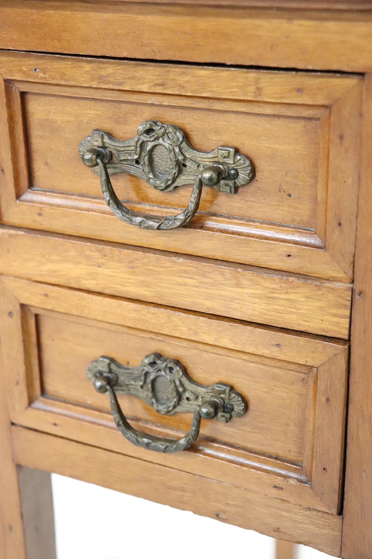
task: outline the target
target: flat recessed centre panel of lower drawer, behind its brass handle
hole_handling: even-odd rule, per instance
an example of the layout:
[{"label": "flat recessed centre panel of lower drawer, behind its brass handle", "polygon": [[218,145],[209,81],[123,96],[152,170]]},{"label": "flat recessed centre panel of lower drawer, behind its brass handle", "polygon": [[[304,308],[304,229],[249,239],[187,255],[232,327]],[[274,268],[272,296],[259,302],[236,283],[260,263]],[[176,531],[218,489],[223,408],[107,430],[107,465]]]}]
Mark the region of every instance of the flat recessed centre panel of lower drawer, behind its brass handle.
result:
[{"label": "flat recessed centre panel of lower drawer, behind its brass handle", "polygon": [[[76,321],[75,321],[76,320]],[[143,357],[160,353],[180,361],[190,376],[202,385],[231,384],[245,395],[249,414],[231,420],[226,427],[219,421],[205,421],[201,435],[223,440],[236,447],[247,447],[289,461],[303,462],[303,438],[307,397],[306,366],[281,368],[272,360],[250,362],[250,356],[219,350],[197,342],[99,322],[86,323],[65,314],[36,315],[43,394],[51,399],[79,406],[110,411],[108,397],[93,390],[85,372],[89,363],[104,355],[119,363],[137,366]],[[68,348],[68,349],[67,349]],[[67,349],[67,350],[66,350]],[[188,430],[192,416],[160,416],[150,406],[132,396],[120,397],[125,414],[167,427]],[[280,411],[279,411],[280,410]],[[278,422],[280,413],[280,423]]]}]

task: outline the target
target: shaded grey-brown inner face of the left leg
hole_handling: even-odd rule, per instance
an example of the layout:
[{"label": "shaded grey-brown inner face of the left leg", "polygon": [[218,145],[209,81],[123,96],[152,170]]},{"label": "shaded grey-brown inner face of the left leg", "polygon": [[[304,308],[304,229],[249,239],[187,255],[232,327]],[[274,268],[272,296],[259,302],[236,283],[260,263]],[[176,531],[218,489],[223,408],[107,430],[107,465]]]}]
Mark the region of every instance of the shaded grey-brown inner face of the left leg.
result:
[{"label": "shaded grey-brown inner face of the left leg", "polygon": [[27,559],[56,559],[50,473],[18,466]]}]

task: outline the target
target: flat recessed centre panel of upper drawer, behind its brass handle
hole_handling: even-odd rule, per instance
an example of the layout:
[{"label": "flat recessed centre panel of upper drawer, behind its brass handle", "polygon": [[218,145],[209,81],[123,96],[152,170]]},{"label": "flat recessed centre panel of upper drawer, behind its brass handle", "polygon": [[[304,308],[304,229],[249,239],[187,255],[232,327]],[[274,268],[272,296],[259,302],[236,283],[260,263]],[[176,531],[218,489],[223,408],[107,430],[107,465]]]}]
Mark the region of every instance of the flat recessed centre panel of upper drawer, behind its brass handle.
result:
[{"label": "flat recessed centre panel of upper drawer, behind its brass handle", "polygon": [[[235,195],[204,188],[199,212],[315,229],[317,119],[248,112],[236,115],[234,103],[231,111],[221,111],[218,102],[205,110],[194,100],[187,103],[190,99],[180,107],[133,103],[130,95],[127,99],[92,101],[26,93],[32,188],[102,198],[99,177],[81,162],[80,141],[96,127],[103,127],[115,138],[133,138],[141,122],[154,119],[180,127],[196,149],[210,151],[219,145],[233,145],[254,160],[256,178],[252,184],[240,187]],[[61,165],[64,160],[68,165]],[[112,177],[112,182],[120,200],[153,205],[157,212],[166,209],[174,213],[173,208],[186,207],[190,200],[187,186],[165,193],[125,174]]]}]

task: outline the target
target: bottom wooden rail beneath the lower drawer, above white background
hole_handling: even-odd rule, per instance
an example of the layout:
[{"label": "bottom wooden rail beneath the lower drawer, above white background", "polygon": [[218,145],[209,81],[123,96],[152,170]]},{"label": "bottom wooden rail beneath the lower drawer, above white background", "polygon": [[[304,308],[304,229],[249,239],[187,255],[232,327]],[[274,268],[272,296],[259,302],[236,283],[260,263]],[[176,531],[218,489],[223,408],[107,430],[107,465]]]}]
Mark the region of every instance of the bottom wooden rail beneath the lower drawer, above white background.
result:
[{"label": "bottom wooden rail beneath the lower drawer, above white background", "polygon": [[21,465],[37,465],[46,471],[192,510],[275,538],[307,545],[316,540],[317,546],[331,555],[340,552],[341,517],[289,505],[282,499],[270,499],[268,503],[264,496],[241,487],[21,427],[14,427],[12,433],[15,458]]}]

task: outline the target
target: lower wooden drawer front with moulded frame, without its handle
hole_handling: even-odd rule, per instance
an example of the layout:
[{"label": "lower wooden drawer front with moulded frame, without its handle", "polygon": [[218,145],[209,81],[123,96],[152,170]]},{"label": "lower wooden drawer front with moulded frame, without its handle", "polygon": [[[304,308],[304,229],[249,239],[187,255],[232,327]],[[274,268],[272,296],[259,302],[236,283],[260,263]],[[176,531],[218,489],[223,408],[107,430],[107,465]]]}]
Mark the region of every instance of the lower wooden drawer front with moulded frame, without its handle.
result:
[{"label": "lower wooden drawer front with moulded frame, without its handle", "polygon": [[[15,278],[3,277],[2,285],[13,313],[3,316],[2,335],[15,340],[4,354],[15,423],[337,513],[347,344],[263,328],[254,335],[254,325],[236,322],[228,349],[218,318],[206,328],[206,317],[195,313]],[[191,341],[199,334],[203,343]],[[22,339],[25,349],[13,353]],[[282,344],[286,360],[277,358]],[[247,396],[248,413],[227,430],[203,424],[201,435],[211,440],[201,439],[197,452],[170,456],[133,447],[114,428],[108,401],[94,392],[85,369],[100,354],[138,364],[153,351],[180,359],[197,382],[232,383]],[[139,429],[173,438],[174,429],[189,429],[188,414],[160,417],[137,399],[120,401]],[[328,423],[331,441],[324,436]]]}]

